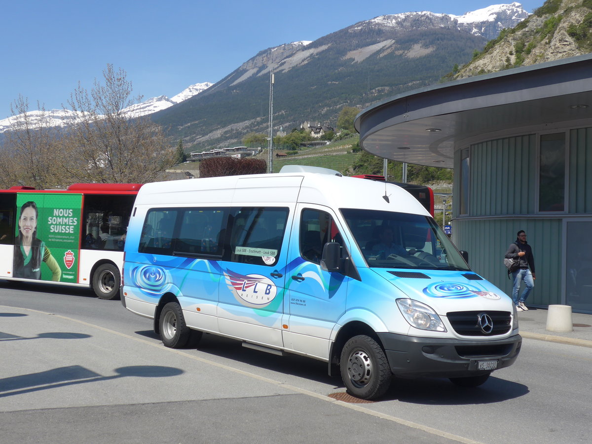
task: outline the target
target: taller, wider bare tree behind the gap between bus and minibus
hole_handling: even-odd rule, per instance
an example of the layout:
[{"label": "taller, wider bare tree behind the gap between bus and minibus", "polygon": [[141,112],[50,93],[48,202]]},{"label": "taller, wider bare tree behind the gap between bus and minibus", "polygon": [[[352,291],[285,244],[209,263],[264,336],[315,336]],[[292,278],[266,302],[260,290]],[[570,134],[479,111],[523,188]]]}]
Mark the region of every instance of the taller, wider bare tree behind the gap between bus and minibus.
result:
[{"label": "taller, wider bare tree behind the gap between bus and minibus", "polygon": [[66,127],[60,166],[78,182],[153,181],[173,165],[175,150],[149,117],[130,118],[123,111],[141,101],[131,98],[126,72],[107,65],[103,77],[104,83],[95,79],[90,94],[79,84],[70,96],[77,118]]}]

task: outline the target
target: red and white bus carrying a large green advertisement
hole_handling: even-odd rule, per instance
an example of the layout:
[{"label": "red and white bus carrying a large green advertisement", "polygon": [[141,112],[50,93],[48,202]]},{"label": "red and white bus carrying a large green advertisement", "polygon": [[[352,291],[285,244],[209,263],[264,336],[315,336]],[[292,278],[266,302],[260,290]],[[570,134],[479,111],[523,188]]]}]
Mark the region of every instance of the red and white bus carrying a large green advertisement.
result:
[{"label": "red and white bus carrying a large green advertisement", "polygon": [[141,184],[0,190],[0,279],[90,287],[117,299],[127,224]]}]

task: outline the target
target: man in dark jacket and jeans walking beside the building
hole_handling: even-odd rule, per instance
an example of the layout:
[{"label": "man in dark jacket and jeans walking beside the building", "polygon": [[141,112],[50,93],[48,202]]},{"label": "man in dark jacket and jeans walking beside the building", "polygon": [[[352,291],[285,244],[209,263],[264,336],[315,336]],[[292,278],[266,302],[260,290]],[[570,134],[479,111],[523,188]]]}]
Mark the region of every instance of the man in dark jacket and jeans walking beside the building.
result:
[{"label": "man in dark jacket and jeans walking beside the building", "polygon": [[[516,305],[516,310],[527,311],[525,305],[526,298],[535,287],[535,258],[532,256],[532,248],[526,242],[526,233],[520,230],[517,233],[518,238],[508,247],[506,259],[518,259],[518,269],[512,272],[514,287],[512,289],[512,300]],[[520,284],[524,281],[525,289],[518,298]]]}]

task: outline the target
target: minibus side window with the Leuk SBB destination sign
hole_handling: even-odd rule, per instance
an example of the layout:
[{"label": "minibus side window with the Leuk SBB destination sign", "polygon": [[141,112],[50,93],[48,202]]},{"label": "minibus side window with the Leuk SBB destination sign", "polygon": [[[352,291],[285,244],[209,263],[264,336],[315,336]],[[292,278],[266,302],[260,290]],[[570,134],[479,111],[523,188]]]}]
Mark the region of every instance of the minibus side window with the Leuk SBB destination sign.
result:
[{"label": "minibus side window with the Leuk SBB destination sign", "polygon": [[231,217],[228,260],[273,266],[280,255],[288,208],[240,208]]}]

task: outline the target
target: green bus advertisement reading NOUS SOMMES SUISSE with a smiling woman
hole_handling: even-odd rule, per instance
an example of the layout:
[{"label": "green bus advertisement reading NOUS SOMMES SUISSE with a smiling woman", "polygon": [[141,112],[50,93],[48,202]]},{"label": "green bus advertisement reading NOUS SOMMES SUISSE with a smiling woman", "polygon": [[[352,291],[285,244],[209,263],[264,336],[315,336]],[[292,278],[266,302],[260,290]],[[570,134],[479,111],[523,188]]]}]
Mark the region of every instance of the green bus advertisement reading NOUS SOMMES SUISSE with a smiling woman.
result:
[{"label": "green bus advertisement reading NOUS SOMMES SUISSE with a smiling woman", "polygon": [[81,194],[17,195],[15,278],[77,282]]}]

